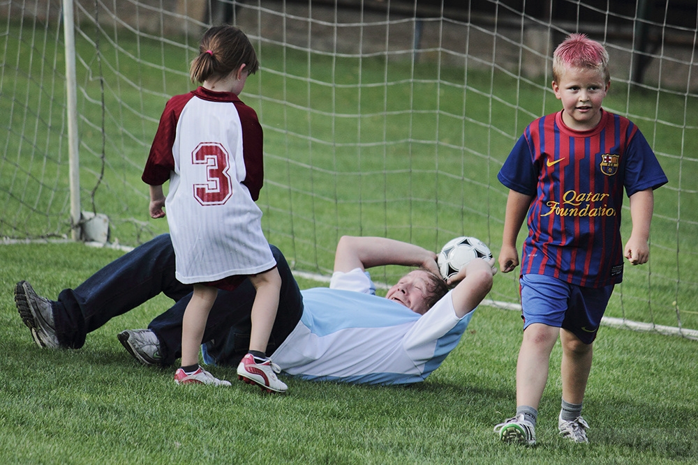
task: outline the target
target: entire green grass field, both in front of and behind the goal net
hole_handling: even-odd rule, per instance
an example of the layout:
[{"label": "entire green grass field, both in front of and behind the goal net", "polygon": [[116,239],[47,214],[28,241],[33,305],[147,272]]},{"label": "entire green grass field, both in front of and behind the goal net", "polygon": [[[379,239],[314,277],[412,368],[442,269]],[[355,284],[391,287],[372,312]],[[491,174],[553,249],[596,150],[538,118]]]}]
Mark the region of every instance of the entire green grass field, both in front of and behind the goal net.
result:
[{"label": "entire green grass field, both in front of and behind the goal net", "polygon": [[[53,49],[59,40],[42,34],[51,32],[28,38],[10,24],[3,37],[0,236],[69,230],[64,90],[51,69],[62,52]],[[78,70],[83,209],[109,215],[112,239],[135,245],[167,230],[147,218],[140,174],[166,97],[188,89],[191,50],[119,31],[121,49],[101,43],[102,96],[94,47],[80,38],[78,47],[80,66],[89,67]],[[34,59],[24,59],[30,51]],[[559,108],[549,93],[505,73],[431,63],[411,70],[268,44],[258,52],[264,68],[242,97],[265,126],[259,204],[269,241],[295,269],[327,274],[342,234],[433,250],[468,234],[498,252],[506,192],[496,173],[524,126]],[[118,69],[106,64],[117,62]],[[614,83],[604,106],[638,123],[670,179],[655,195],[651,262],[626,267],[607,315],[676,326],[681,309],[683,325],[698,329],[698,167],[684,155],[698,151],[698,113],[686,111],[695,96]],[[627,238],[630,215],[623,215]],[[0,245],[0,463],[698,462],[698,343],[679,337],[602,329],[584,409],[589,445],[557,436],[557,347],[533,449],[502,445],[492,432],[514,409],[517,312],[481,307],[443,366],[409,388],[295,379],[285,379],[290,394],[281,397],[243,383],[177,388],[171,370],[138,365],[116,339],[147,326],[168,307],[164,297],[91,333],[83,349],[38,349],[17,316],[15,283],[29,280],[55,298],[120,253],[74,243]],[[402,271],[374,277],[391,282]],[[516,294],[513,275],[496,276],[492,298],[514,302]],[[215,373],[234,377],[232,369]]]}]

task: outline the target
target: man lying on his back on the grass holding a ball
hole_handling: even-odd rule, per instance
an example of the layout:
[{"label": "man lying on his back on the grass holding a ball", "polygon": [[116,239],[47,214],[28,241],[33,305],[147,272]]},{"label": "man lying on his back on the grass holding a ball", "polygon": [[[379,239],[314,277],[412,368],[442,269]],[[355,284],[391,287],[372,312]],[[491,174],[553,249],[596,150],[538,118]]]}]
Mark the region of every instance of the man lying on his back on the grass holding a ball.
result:
[{"label": "man lying on his back on the grass holding a ball", "polygon": [[[475,259],[449,282],[436,254],[387,238],[343,236],[329,288],[300,291],[281,251],[271,246],[281,275],[279,310],[267,353],[285,374],[313,381],[403,384],[423,381],[458,344],[473,310],[496,273]],[[419,267],[376,296],[366,271],[374,266]],[[452,288],[449,290],[449,288]],[[34,341],[50,349],[79,349],[87,333],[157,296],[175,303],[147,330],[125,330],[119,341],[146,365],[171,365],[180,356],[181,321],[191,285],[174,278],[174,250],[163,234],[108,264],[57,300],[17,283],[15,303]],[[221,291],[211,309],[203,360],[237,367],[247,351],[254,287]]]}]

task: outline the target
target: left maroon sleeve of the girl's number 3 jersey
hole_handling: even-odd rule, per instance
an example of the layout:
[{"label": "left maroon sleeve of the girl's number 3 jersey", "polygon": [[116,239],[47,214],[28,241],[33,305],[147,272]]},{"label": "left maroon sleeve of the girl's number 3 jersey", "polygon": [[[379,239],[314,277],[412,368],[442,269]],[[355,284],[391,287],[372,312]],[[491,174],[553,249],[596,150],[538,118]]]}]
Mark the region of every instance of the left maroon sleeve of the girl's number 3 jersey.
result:
[{"label": "left maroon sleeve of the girl's number 3 jersey", "polygon": [[192,93],[174,96],[165,105],[141,176],[144,183],[162,185],[170,180],[170,172],[174,170],[172,146],[174,146],[174,137],[177,135],[177,121],[184,105],[192,97]]}]

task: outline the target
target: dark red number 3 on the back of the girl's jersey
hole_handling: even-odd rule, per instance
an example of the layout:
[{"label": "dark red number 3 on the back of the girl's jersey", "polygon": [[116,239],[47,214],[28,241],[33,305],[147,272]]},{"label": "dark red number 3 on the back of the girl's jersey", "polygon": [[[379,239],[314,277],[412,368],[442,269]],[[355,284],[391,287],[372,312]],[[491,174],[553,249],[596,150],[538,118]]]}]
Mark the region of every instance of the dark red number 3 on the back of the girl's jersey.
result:
[{"label": "dark red number 3 on the back of the girl's jersey", "polygon": [[232,195],[228,152],[216,142],[202,142],[191,153],[194,165],[206,165],[206,183],[194,184],[194,197],[202,205],[225,204]]}]

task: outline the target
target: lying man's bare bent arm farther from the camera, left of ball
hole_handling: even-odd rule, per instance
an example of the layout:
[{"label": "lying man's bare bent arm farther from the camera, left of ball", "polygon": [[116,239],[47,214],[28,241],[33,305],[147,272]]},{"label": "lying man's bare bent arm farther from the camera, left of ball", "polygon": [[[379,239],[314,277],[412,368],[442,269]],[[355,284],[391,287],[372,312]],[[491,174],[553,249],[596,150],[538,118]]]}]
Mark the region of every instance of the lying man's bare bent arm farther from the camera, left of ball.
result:
[{"label": "lying man's bare bent arm farther from the camera, left of ball", "polygon": [[423,266],[439,275],[436,253],[419,245],[382,237],[342,236],[334,254],[334,270],[348,273],[373,266]]}]

